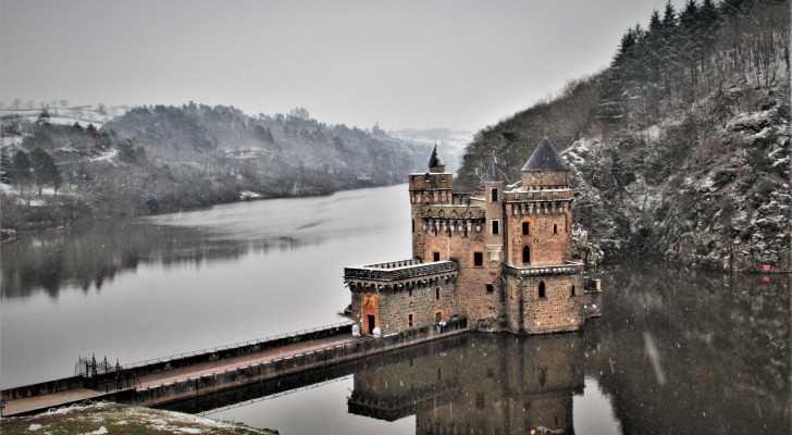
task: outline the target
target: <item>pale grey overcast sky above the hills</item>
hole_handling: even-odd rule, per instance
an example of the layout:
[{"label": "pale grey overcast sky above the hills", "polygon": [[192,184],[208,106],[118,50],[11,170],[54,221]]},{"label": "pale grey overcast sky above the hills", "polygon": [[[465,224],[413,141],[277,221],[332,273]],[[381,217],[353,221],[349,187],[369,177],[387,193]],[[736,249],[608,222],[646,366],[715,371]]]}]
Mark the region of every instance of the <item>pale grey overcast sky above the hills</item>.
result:
[{"label": "pale grey overcast sky above the hills", "polygon": [[0,0],[0,101],[478,130],[607,66],[665,1]]}]

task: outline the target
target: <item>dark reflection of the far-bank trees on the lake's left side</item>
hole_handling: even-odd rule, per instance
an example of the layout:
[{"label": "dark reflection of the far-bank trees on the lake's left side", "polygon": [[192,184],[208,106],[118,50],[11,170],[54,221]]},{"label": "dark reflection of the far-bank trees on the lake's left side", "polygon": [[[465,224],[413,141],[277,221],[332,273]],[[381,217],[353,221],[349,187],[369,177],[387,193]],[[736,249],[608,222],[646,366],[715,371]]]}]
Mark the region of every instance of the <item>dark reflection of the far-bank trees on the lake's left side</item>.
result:
[{"label": "dark reflection of the far-bank trees on the lake's left side", "polygon": [[[3,298],[20,298],[44,290],[58,297],[69,287],[101,289],[119,273],[134,272],[140,264],[200,264],[235,259],[249,249],[269,249],[270,245],[206,241],[207,236],[195,229],[156,226],[145,221],[92,223],[69,232],[22,236],[2,244],[0,294]],[[281,240],[274,243],[284,246]]]}]

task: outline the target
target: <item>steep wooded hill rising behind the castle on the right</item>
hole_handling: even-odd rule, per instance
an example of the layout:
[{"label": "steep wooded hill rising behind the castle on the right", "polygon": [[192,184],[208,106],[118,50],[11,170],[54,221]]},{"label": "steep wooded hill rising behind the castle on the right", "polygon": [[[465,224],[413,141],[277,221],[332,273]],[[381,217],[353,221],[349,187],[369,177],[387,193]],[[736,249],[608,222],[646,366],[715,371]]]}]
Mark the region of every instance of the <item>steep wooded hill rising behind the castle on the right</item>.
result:
[{"label": "steep wooded hill rising behind the castle on the right", "polygon": [[789,0],[668,3],[605,71],[479,132],[456,185],[479,188],[493,153],[519,181],[546,133],[584,251],[790,271],[789,38]]}]

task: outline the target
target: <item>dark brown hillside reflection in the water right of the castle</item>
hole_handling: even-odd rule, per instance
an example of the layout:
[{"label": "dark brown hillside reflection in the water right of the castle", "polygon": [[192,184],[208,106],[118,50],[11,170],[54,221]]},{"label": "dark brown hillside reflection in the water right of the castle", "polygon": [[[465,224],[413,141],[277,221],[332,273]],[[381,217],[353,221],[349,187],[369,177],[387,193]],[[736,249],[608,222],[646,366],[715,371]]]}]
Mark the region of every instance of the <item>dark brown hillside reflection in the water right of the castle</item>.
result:
[{"label": "dark brown hillside reflection in the water right of the castle", "polygon": [[790,277],[621,264],[596,373],[626,433],[790,433]]}]

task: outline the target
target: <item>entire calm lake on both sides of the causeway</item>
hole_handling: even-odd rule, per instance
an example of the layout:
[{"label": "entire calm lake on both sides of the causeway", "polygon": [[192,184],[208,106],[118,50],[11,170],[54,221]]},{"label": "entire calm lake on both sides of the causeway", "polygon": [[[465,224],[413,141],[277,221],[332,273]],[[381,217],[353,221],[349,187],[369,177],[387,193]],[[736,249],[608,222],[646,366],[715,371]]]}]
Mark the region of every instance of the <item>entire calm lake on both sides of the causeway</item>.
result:
[{"label": "entire calm lake on both sides of the causeway", "polygon": [[[8,388],[70,376],[81,356],[125,364],[339,322],[345,265],[410,257],[409,199],[243,202],[1,249]],[[603,318],[583,333],[467,335],[172,408],[285,434],[790,433],[789,275],[599,275]]]}]

